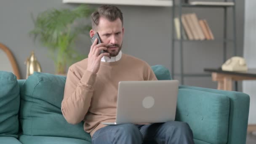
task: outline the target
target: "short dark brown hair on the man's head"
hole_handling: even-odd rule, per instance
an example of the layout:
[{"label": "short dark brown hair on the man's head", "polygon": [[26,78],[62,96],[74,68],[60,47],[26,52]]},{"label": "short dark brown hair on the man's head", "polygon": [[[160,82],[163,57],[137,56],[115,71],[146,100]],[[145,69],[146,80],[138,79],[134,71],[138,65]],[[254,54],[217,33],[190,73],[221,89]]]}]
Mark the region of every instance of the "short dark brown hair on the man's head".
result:
[{"label": "short dark brown hair on the man's head", "polygon": [[122,21],[123,26],[123,13],[116,6],[112,5],[101,5],[96,11],[91,14],[91,25],[95,30],[99,25],[99,18],[104,17],[109,21],[115,21],[116,19],[120,19]]}]

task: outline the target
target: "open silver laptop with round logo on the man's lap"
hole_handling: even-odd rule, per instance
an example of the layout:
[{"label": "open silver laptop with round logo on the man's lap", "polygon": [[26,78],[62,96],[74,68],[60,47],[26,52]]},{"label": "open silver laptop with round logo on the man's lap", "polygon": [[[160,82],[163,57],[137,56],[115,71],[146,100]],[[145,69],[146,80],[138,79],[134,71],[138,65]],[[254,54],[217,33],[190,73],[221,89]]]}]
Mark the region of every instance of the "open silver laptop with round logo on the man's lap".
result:
[{"label": "open silver laptop with round logo on the man's lap", "polygon": [[176,115],[178,80],[120,81],[115,123],[164,123]]}]

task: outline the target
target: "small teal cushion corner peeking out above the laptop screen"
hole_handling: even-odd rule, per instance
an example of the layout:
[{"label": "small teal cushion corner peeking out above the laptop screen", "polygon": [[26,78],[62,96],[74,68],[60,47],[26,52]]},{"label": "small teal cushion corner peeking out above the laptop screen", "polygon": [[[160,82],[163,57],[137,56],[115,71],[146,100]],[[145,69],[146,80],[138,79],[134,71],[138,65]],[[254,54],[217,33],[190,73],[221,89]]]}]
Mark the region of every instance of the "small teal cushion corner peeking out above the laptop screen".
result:
[{"label": "small teal cushion corner peeking out above the laptop screen", "polygon": [[163,65],[155,65],[151,67],[157,80],[171,80],[171,75],[169,70]]}]

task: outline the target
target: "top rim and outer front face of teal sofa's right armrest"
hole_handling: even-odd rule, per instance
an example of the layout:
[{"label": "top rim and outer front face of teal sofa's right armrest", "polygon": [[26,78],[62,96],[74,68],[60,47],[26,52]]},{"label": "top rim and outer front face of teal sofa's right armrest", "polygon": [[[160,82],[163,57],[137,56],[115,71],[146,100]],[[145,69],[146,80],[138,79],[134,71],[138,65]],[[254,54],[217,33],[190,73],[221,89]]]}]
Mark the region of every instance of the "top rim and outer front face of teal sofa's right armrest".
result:
[{"label": "top rim and outer front face of teal sofa's right armrest", "polygon": [[[250,97],[241,92],[221,91],[210,88],[200,88],[181,85],[179,89],[189,89],[195,91],[215,93],[216,95],[227,96],[229,98],[229,122],[227,144],[245,144],[248,126]],[[197,106],[195,106],[197,107]],[[209,129],[210,130],[210,129]]]}]

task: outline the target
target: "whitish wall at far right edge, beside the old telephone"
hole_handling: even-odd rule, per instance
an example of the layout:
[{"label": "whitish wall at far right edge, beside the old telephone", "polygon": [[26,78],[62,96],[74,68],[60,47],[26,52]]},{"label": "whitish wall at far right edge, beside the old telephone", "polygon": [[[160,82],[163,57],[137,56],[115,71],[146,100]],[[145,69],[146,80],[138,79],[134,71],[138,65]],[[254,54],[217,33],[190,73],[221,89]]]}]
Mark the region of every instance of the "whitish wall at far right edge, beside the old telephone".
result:
[{"label": "whitish wall at far right edge, beside the old telephone", "polygon": [[[256,68],[256,0],[245,0],[244,57],[249,68]],[[249,124],[256,124],[256,81],[243,81],[243,92],[250,96]]]}]

